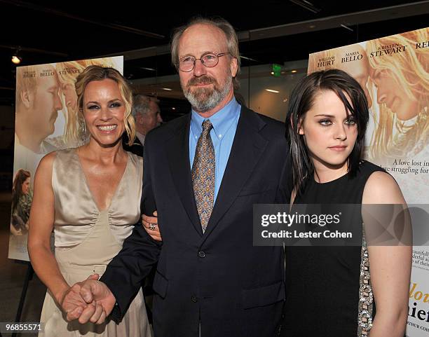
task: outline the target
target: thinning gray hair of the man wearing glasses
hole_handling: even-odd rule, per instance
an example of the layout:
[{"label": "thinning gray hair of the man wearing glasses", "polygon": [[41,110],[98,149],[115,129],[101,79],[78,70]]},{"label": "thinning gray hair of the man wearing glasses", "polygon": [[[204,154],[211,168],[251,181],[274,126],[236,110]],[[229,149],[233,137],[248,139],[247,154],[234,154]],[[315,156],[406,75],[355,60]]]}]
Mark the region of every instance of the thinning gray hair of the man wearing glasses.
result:
[{"label": "thinning gray hair of the man wearing glasses", "polygon": [[[175,29],[171,39],[172,64],[174,64],[177,68],[177,63],[179,63],[179,40],[184,31],[193,25],[210,25],[217,27],[222,30],[222,32],[224,32],[226,36],[226,46],[228,48],[228,52],[231,54],[231,57],[235,57],[237,59],[237,75],[240,74],[240,52],[238,50],[238,37],[232,25],[222,18],[197,17],[191,19],[191,21],[189,21],[186,25]],[[237,76],[233,78],[233,85],[236,89],[240,87]]]}]

